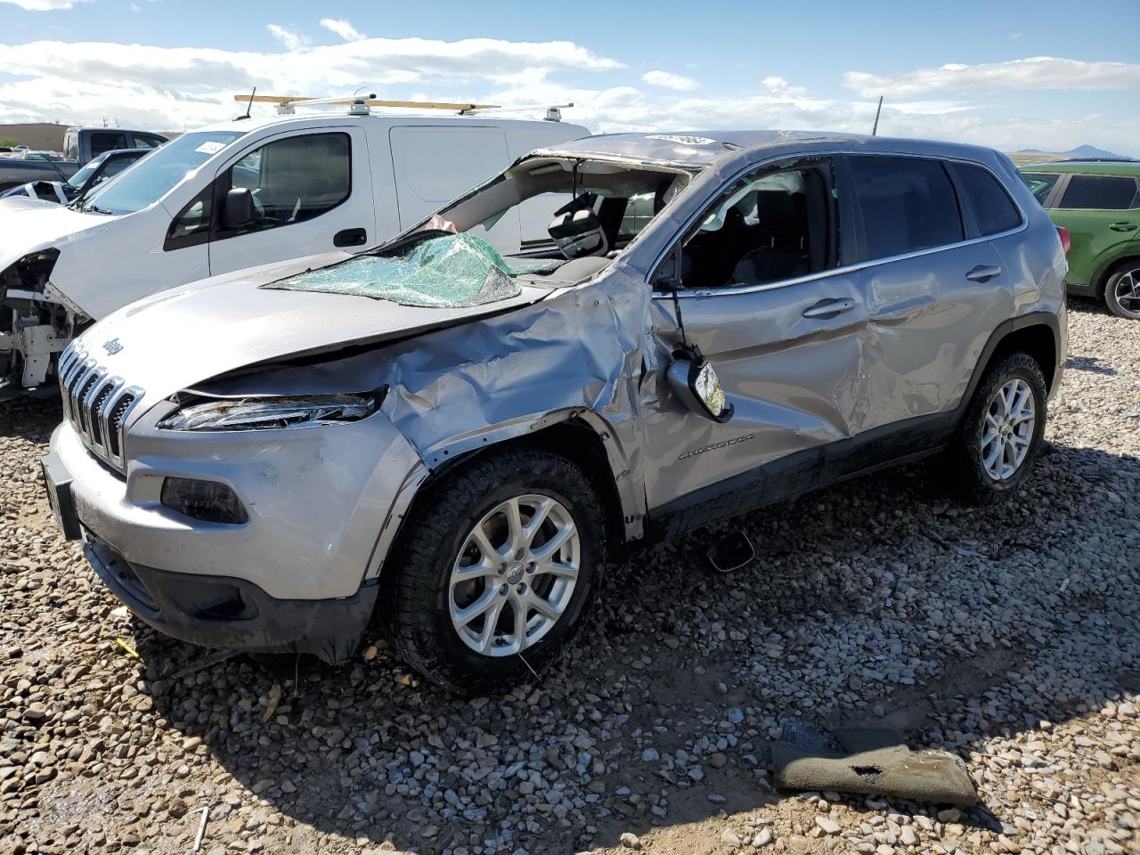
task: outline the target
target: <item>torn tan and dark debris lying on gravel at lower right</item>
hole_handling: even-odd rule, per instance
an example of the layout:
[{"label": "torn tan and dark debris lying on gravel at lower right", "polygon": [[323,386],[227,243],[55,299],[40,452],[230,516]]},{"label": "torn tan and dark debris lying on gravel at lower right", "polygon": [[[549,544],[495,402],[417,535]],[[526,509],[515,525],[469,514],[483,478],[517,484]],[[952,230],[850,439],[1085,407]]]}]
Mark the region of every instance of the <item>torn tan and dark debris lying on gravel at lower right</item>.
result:
[{"label": "torn tan and dark debris lying on gravel at lower right", "polygon": [[946,751],[912,751],[889,727],[838,727],[830,734],[788,723],[772,746],[776,785],[897,796],[972,807],[978,801],[966,764]]}]

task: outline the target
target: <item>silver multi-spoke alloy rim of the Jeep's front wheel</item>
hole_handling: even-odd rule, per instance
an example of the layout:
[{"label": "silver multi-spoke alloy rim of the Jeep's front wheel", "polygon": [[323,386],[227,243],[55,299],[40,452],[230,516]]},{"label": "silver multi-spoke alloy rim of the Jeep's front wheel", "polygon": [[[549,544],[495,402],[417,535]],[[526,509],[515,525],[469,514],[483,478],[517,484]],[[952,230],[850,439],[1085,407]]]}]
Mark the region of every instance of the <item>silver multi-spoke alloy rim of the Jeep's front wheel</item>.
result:
[{"label": "silver multi-spoke alloy rim of the Jeep's front wheel", "polygon": [[549,496],[515,496],[491,508],[467,534],[451,568],[451,626],[488,657],[521,653],[565,611],[580,563],[578,529]]}]

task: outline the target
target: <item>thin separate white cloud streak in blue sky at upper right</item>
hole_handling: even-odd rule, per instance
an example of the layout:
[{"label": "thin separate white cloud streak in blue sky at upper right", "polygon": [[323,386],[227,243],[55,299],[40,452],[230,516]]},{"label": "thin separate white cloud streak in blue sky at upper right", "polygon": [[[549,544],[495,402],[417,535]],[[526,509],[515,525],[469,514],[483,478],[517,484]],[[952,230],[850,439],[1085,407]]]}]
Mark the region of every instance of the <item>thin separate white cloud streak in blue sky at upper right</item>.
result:
[{"label": "thin separate white cloud streak in blue sky at upper right", "polygon": [[947,89],[1140,89],[1140,65],[1037,56],[980,65],[950,63],[894,75],[847,72],[844,85],[865,98]]}]

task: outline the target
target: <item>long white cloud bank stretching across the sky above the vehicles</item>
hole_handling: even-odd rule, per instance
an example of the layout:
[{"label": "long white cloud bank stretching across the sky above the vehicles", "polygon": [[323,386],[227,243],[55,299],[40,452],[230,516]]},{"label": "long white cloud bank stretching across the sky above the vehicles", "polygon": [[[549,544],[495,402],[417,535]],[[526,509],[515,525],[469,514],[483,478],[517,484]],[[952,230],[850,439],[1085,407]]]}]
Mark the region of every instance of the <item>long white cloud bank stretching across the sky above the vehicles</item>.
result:
[{"label": "long white cloud bank stretching across the sky above the vehicles", "polygon": [[[784,128],[868,133],[874,120],[878,92],[821,98],[779,75],[743,92],[716,96],[705,93],[707,88],[701,95],[662,91],[633,74],[614,85],[591,84],[594,73],[621,67],[616,58],[568,41],[364,39],[260,52],[103,42],[0,43],[0,68],[19,70],[0,80],[0,121],[99,124],[106,117],[130,127],[181,130],[237,115],[244,105],[234,103],[234,93],[253,85],[259,93],[314,97],[366,85],[386,98],[409,100],[504,106],[572,101],[576,106],[564,111],[565,120],[595,132]],[[268,114],[272,108],[254,106],[254,112]],[[1067,150],[1088,142],[1140,155],[1140,116],[1127,109],[1027,119],[1008,101],[999,112],[979,98],[906,93],[887,98],[879,132],[1005,149]]]}]

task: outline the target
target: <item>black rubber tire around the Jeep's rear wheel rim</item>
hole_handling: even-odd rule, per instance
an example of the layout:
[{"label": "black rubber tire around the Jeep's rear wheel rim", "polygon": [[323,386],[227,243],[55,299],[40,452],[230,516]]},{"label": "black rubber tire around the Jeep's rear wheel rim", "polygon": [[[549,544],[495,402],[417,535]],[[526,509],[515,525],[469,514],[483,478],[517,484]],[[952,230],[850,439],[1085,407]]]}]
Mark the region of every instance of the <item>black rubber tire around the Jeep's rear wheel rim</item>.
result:
[{"label": "black rubber tire around the Jeep's rear wheel rim", "polygon": [[[1033,393],[1034,424],[1029,445],[1013,473],[996,480],[986,470],[983,431],[995,396],[1010,381],[1021,380]],[[956,496],[969,504],[986,505],[1021,487],[1041,453],[1045,432],[1048,391],[1041,366],[1027,353],[1011,353],[990,368],[970,399],[966,418],[942,459],[942,472]]]}]

